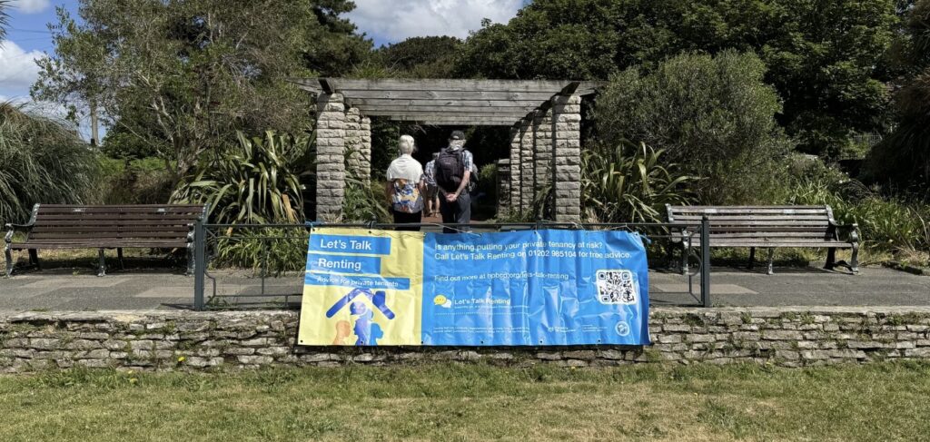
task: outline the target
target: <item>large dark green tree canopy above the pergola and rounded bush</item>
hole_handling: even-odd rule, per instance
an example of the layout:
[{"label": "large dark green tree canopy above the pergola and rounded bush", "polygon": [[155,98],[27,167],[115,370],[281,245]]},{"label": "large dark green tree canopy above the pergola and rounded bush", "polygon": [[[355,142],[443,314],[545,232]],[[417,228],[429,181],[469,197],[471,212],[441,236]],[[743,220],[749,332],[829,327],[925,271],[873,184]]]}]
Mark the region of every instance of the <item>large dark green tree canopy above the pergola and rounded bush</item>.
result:
[{"label": "large dark green tree canopy above the pergola and rounded bush", "polygon": [[802,150],[835,156],[887,126],[883,53],[896,0],[537,0],[468,39],[459,74],[606,79],[686,51],[751,50]]}]

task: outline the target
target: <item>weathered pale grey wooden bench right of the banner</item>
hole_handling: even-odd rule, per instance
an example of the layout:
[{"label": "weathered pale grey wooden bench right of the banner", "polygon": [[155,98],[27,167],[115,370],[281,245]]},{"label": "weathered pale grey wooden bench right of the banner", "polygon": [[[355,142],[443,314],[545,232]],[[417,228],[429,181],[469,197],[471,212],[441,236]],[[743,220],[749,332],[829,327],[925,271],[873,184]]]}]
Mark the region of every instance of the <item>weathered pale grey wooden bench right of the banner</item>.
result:
[{"label": "weathered pale grey wooden bench right of the banner", "polygon": [[[859,236],[857,225],[843,226],[833,220],[830,206],[672,206],[666,204],[670,223],[699,225],[711,222],[711,247],[749,247],[750,264],[756,247],[768,249],[768,274],[776,247],[826,247],[824,268],[846,267],[858,273]],[[682,246],[682,270],[687,270],[687,250],[700,244],[700,231],[677,229],[672,241]],[[836,262],[836,249],[853,249],[849,263]],[[671,253],[671,251],[670,251]]]}]

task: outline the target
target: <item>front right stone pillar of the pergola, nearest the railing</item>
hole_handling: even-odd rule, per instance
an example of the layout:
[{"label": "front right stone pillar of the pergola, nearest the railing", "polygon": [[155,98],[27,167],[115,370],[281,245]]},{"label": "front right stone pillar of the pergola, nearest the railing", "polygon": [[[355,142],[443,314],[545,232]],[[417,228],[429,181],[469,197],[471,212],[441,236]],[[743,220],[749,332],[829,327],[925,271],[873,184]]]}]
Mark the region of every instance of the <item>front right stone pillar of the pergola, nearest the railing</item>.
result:
[{"label": "front right stone pillar of the pergola, nearest the railing", "polygon": [[552,97],[555,220],[581,219],[581,96]]}]

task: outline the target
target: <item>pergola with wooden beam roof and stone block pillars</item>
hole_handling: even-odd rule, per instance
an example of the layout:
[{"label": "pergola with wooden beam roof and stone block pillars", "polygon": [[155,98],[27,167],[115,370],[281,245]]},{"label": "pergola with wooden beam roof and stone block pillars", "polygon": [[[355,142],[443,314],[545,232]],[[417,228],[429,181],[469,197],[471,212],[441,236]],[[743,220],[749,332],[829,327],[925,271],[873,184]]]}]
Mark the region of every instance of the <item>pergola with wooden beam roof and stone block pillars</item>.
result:
[{"label": "pergola with wooden beam roof and stone block pillars", "polygon": [[316,215],[341,218],[345,159],[370,175],[371,121],[511,126],[509,170],[498,210],[528,211],[553,185],[555,219],[580,216],[581,97],[599,82],[312,78],[294,80],[317,99]]}]

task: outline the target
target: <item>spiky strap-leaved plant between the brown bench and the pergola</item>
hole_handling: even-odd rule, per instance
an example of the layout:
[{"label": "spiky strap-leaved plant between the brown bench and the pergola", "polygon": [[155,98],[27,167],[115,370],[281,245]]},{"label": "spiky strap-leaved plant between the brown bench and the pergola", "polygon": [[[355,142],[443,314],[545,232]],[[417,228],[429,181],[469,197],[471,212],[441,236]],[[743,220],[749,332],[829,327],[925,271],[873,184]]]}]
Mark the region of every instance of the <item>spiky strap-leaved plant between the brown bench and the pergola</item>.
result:
[{"label": "spiky strap-leaved plant between the brown bench and the pergola", "polygon": [[312,163],[310,137],[272,131],[264,137],[237,136],[235,149],[207,155],[171,200],[209,204],[214,223],[303,221],[299,172]]}]

